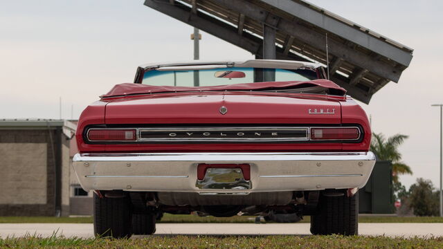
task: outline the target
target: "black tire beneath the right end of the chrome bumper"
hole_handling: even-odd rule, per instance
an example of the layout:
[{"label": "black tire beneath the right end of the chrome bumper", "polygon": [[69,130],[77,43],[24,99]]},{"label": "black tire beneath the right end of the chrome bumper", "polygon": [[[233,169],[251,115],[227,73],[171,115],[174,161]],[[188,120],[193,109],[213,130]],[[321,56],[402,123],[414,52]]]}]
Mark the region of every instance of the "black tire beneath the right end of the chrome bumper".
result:
[{"label": "black tire beneath the right end of the chrome bumper", "polygon": [[318,214],[311,215],[312,234],[359,234],[358,193],[352,197],[323,196],[318,200]]}]

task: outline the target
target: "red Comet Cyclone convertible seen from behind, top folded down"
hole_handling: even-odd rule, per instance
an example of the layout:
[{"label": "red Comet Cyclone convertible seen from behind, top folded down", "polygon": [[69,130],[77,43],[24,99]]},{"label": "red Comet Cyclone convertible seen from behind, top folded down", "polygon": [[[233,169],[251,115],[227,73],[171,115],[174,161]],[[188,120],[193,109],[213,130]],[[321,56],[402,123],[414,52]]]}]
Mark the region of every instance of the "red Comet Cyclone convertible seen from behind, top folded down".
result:
[{"label": "red Comet Cyclone convertible seen from behind, top folded down", "polygon": [[159,213],[197,212],[310,215],[313,234],[357,234],[375,157],[345,93],[307,62],[138,67],[78,123],[73,167],[94,191],[95,233],[152,234]]}]

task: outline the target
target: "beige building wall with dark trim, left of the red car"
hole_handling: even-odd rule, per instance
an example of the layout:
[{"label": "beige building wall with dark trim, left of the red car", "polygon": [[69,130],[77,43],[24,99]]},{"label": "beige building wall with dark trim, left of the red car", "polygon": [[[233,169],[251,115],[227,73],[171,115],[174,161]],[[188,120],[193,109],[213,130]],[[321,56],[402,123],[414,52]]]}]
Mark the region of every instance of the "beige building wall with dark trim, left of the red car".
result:
[{"label": "beige building wall with dark trim, left of the red car", "polygon": [[62,191],[62,183],[69,185],[62,179],[62,161],[66,155],[69,160],[62,145],[69,142],[57,128],[0,129],[0,216],[54,216],[59,208],[61,214],[69,210],[69,193],[66,198]]}]

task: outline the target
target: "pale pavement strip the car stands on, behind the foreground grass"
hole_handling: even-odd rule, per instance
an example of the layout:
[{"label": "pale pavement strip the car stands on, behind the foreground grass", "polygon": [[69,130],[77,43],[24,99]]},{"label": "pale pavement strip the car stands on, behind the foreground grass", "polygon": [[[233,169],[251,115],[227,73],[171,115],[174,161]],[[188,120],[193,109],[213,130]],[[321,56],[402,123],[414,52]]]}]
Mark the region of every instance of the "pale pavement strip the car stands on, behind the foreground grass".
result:
[{"label": "pale pavement strip the car stands on, behind the foreground grass", "polygon": [[[49,237],[53,233],[65,237],[93,237],[92,224],[76,223],[0,223],[0,237],[23,237],[26,234]],[[310,235],[309,223],[159,223],[154,236],[176,234],[224,235]],[[443,223],[360,223],[359,234],[388,237],[443,237]],[[138,237],[138,236],[137,236]]]}]

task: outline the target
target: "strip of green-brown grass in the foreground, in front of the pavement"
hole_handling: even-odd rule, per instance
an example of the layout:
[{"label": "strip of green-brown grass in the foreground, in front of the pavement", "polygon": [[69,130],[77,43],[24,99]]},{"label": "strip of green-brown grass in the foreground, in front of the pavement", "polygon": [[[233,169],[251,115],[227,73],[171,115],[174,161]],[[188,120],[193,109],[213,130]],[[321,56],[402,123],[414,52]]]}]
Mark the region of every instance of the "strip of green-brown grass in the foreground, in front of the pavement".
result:
[{"label": "strip of green-brown grass in the foreground, in front of the pavement", "polygon": [[0,239],[0,248],[443,248],[442,237],[331,236],[150,236],[136,239],[42,238]]}]

